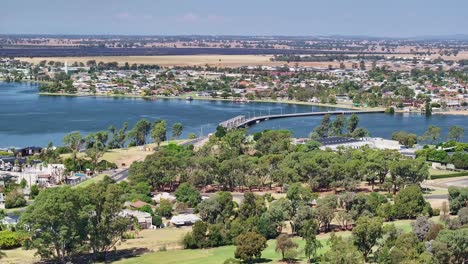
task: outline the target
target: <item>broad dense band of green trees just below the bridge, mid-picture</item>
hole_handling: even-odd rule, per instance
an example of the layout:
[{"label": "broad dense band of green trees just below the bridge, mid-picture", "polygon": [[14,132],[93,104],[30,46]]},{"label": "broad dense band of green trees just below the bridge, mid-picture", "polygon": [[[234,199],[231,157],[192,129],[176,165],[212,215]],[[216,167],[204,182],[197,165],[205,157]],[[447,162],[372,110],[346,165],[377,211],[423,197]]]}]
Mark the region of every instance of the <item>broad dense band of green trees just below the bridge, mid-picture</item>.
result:
[{"label": "broad dense band of green trees just below the bridge, mid-picture", "polygon": [[288,131],[248,136],[245,130],[217,133],[201,149],[170,145],[130,167],[130,183],[153,190],[174,190],[180,182],[217,186],[220,190],[271,188],[295,182],[313,190],[356,190],[361,181],[396,192],[428,177],[424,160],[406,160],[389,150],[319,150],[319,144],[291,144]]}]

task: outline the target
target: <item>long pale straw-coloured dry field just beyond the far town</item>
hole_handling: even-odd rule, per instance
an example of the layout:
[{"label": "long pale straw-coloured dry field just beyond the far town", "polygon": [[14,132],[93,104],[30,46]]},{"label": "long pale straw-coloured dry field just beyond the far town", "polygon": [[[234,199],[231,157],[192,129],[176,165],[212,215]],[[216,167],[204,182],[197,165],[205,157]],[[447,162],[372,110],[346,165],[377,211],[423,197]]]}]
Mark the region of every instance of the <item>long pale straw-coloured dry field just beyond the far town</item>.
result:
[{"label": "long pale straw-coloured dry field just beyond the far town", "polygon": [[181,55],[181,56],[103,56],[103,57],[43,57],[43,58],[18,58],[22,61],[39,63],[42,60],[67,62],[71,65],[75,61],[86,63],[89,60],[97,62],[118,62],[123,65],[129,64],[148,64],[160,66],[257,66],[265,65],[270,62],[270,55]]}]

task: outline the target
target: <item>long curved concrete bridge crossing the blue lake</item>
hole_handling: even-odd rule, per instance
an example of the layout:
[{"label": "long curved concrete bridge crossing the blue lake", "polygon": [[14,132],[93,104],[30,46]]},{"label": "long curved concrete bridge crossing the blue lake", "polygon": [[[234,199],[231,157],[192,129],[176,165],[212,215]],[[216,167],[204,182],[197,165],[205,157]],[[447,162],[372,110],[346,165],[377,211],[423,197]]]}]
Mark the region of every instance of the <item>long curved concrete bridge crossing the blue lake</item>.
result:
[{"label": "long curved concrete bridge crossing the blue lake", "polygon": [[267,121],[270,119],[278,118],[288,118],[288,117],[301,117],[301,116],[323,116],[326,114],[329,115],[352,115],[352,114],[380,114],[385,113],[384,110],[364,110],[364,111],[328,111],[328,112],[305,112],[305,113],[294,113],[294,114],[278,114],[278,115],[265,115],[265,116],[256,116],[250,119],[246,119],[245,116],[236,116],[229,120],[219,123],[220,126],[223,126],[228,129],[247,127],[260,123],[261,121]]}]

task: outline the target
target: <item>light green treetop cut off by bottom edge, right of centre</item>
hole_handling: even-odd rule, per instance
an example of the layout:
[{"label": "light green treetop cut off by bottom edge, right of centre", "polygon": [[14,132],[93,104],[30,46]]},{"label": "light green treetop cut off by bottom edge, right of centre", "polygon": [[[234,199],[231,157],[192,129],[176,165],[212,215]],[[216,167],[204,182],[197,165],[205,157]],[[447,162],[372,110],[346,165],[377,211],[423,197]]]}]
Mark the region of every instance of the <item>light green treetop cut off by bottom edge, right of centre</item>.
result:
[{"label": "light green treetop cut off by bottom edge, right of centre", "polygon": [[349,241],[346,241],[335,233],[331,234],[330,250],[323,255],[325,263],[329,264],[357,264],[364,263],[362,253]]}]

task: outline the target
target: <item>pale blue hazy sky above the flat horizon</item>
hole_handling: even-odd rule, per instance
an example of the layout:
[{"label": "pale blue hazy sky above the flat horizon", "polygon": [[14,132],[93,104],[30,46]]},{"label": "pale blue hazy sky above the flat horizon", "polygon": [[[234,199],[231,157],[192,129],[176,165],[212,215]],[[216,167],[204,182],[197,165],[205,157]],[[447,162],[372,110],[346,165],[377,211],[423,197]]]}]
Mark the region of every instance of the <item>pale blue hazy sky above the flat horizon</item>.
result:
[{"label": "pale blue hazy sky above the flat horizon", "polygon": [[0,0],[0,34],[468,35],[466,0]]}]

